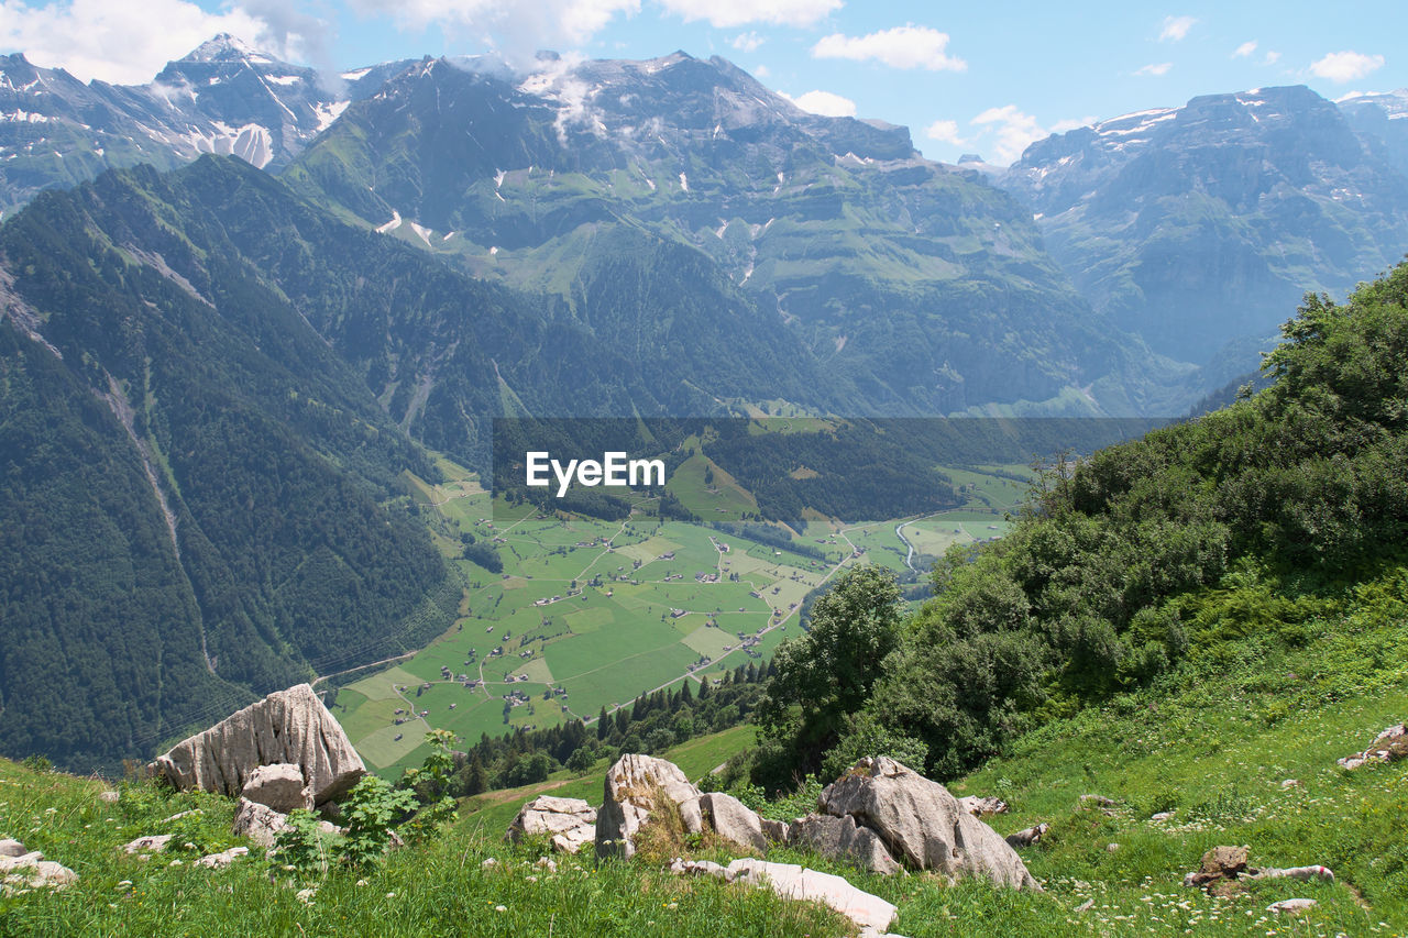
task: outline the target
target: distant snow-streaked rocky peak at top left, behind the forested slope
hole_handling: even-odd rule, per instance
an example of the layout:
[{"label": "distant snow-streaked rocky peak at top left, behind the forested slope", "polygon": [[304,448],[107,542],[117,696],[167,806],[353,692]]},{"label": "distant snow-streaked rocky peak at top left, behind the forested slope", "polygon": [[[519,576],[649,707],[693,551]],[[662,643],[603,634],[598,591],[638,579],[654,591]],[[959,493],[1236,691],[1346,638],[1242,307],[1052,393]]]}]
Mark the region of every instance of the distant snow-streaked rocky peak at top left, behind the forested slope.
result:
[{"label": "distant snow-streaked rocky peak at top left, behind the forested slope", "polygon": [[0,56],[0,211],[35,193],[139,162],[170,169],[200,154],[234,154],[277,168],[349,101],[373,93],[406,62],[328,82],[230,35],[169,62],[148,85],[84,85],[63,69]]}]

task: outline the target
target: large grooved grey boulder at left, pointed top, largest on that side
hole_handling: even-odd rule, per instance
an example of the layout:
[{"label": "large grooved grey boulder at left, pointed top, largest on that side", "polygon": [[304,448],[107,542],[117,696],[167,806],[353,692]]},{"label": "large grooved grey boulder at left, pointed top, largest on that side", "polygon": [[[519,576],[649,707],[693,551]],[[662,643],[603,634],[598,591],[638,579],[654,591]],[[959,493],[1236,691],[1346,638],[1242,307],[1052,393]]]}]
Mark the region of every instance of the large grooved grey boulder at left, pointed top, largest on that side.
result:
[{"label": "large grooved grey boulder at left, pointed top, largest on that side", "polygon": [[366,775],[362,758],[308,684],[272,693],[158,756],[152,770],[180,790],[237,797],[259,766],[293,763],[314,804],[345,794]]}]

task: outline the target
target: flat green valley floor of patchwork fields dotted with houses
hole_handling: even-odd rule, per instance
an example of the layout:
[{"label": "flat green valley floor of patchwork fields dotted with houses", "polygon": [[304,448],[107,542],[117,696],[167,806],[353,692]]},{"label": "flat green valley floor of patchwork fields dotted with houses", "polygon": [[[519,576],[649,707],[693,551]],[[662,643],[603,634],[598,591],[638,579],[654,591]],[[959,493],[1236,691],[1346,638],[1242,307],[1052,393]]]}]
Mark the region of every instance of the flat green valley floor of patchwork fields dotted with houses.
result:
[{"label": "flat green valley floor of patchwork fields dotted with houses", "polygon": [[[867,562],[905,570],[905,541],[919,556],[993,537],[988,525],[1005,527],[1001,511],[1015,503],[1001,496],[1025,492],[955,473],[973,486],[964,508],[862,525],[812,521],[793,538],[803,554],[642,511],[601,521],[491,504],[466,470],[439,468],[444,483],[408,476],[406,487],[465,580],[459,618],[427,648],[342,686],[332,704],[363,759],[387,776],[424,759],[427,730],[477,741],[591,721],[643,692],[762,663],[798,634],[807,593],[838,570]],[[743,504],[736,494],[729,501]],[[493,544],[503,572],[465,559],[465,535]]]}]

